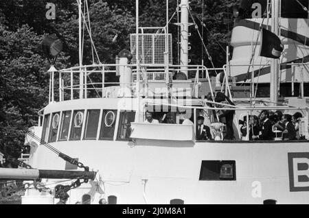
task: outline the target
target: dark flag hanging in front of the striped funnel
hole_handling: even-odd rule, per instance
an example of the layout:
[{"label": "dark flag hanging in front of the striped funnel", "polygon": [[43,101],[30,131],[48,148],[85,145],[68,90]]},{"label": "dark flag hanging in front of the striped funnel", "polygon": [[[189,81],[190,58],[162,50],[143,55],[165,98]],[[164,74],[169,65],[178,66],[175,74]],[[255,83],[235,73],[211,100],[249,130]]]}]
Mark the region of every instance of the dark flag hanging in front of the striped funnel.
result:
[{"label": "dark flag hanging in front of the striped funnel", "polygon": [[262,28],[262,42],[260,47],[260,56],[266,58],[280,58],[284,45],[280,38],[273,32]]}]

